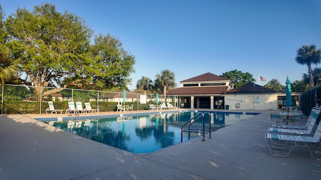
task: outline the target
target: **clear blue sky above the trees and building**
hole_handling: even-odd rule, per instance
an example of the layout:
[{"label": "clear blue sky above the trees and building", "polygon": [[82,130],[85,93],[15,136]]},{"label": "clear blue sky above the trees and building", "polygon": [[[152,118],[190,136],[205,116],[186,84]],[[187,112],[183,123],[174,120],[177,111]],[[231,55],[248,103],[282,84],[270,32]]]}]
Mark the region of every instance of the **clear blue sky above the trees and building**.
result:
[{"label": "clear blue sky above the trees and building", "polygon": [[[302,45],[321,48],[320,0],[3,0],[6,15],[42,2],[86,20],[95,34],[110,33],[135,55],[137,80],[164,69],[176,82],[230,70],[301,80],[307,66],[295,62]],[[321,66],[319,64],[318,66]],[[315,67],[313,65],[312,67]],[[260,85],[266,82],[260,81]]]}]

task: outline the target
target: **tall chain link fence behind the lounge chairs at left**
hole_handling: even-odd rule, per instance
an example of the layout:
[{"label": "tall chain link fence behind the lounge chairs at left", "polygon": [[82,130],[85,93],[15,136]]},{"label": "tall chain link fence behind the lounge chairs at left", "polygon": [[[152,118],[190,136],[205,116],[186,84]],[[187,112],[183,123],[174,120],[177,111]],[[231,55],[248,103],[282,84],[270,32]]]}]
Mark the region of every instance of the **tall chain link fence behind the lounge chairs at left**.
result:
[{"label": "tall chain link fence behind the lounge chairs at left", "polygon": [[68,101],[90,102],[92,108],[99,111],[116,111],[120,102],[133,104],[134,110],[148,110],[149,104],[170,102],[178,105],[178,96],[158,94],[142,94],[123,90],[117,92],[84,90],[73,88],[39,87],[27,85],[2,85],[2,114],[46,113],[48,101],[53,101],[56,109],[68,109]]}]

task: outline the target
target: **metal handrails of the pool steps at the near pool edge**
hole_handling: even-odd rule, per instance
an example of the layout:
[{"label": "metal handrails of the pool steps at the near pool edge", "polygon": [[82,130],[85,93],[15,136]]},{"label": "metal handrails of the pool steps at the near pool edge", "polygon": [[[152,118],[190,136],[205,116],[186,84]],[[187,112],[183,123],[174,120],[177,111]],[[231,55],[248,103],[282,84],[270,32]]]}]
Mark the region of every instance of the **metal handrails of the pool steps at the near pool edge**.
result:
[{"label": "metal handrails of the pool steps at the near pool edge", "polygon": [[[208,116],[209,116],[209,129],[205,129],[205,120],[204,120],[205,114],[208,114]],[[191,125],[199,119],[202,119],[203,128],[192,128]],[[184,130],[184,126],[186,126],[186,125],[188,125],[188,128],[186,128]],[[203,133],[203,140],[202,141],[205,141],[205,131],[209,131],[209,133],[210,133],[209,138],[212,138],[211,137],[211,114],[209,112],[197,113],[196,115],[194,115],[194,117],[192,117],[184,125],[182,125],[182,127],[181,127],[181,142],[183,142],[183,132],[189,133],[189,140],[190,140],[191,132]]]}]

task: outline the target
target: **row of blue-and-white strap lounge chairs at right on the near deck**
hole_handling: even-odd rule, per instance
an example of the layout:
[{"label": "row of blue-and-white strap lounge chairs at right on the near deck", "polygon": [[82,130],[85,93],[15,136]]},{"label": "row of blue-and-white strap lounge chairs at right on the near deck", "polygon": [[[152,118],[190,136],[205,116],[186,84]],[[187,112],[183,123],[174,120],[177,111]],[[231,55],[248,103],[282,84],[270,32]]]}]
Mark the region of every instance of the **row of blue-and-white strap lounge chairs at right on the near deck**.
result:
[{"label": "row of blue-and-white strap lounge chairs at right on the near deck", "polygon": [[270,153],[274,156],[287,157],[294,147],[306,147],[312,159],[320,160],[321,158],[315,157],[315,154],[320,154],[321,145],[321,123],[316,124],[319,114],[320,108],[313,107],[305,125],[275,123],[272,127],[268,127],[265,139]]}]

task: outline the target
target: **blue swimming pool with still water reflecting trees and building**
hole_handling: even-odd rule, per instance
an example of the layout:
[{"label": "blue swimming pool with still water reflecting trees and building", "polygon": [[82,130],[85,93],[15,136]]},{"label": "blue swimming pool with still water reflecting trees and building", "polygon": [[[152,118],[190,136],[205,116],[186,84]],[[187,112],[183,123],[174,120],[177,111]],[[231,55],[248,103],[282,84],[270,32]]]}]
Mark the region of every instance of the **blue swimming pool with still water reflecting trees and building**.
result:
[{"label": "blue swimming pool with still water reflecting trees and building", "polygon": [[[200,111],[199,111],[200,112]],[[81,120],[54,120],[49,124],[133,153],[148,153],[181,142],[181,126],[198,112],[166,112]],[[203,112],[202,112],[203,113]],[[251,114],[210,112],[212,131],[252,117]],[[119,114],[118,114],[119,115]],[[208,128],[208,117],[205,118]],[[202,125],[201,121],[195,124]],[[193,133],[191,138],[200,136]],[[183,133],[183,141],[188,133]]]}]

